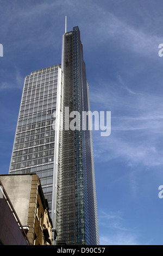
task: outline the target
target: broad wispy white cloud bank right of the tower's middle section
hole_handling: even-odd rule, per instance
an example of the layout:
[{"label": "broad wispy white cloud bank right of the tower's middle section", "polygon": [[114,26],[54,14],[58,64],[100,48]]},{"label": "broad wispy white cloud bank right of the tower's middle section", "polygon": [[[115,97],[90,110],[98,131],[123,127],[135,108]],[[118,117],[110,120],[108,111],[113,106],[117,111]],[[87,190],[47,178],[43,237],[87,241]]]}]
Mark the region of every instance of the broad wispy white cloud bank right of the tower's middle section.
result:
[{"label": "broad wispy white cloud bank right of the tower's middle section", "polygon": [[91,93],[91,102],[97,110],[111,111],[111,135],[102,138],[93,131],[95,160],[124,159],[129,165],[162,165],[162,97],[134,92],[124,88],[124,84],[124,96],[117,85],[116,89],[112,86],[104,89],[105,93],[95,89]]}]

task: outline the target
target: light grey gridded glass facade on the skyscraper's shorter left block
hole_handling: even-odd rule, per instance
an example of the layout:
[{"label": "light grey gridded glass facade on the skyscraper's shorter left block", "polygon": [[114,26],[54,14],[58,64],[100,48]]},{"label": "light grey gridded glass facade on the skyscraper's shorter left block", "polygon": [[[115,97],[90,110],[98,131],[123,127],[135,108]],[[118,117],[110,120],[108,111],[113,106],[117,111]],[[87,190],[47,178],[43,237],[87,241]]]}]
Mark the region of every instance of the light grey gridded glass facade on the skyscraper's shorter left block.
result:
[{"label": "light grey gridded glass facade on the skyscraper's shorter left block", "polygon": [[51,213],[57,91],[60,65],[37,70],[25,78],[9,173],[36,173]]}]

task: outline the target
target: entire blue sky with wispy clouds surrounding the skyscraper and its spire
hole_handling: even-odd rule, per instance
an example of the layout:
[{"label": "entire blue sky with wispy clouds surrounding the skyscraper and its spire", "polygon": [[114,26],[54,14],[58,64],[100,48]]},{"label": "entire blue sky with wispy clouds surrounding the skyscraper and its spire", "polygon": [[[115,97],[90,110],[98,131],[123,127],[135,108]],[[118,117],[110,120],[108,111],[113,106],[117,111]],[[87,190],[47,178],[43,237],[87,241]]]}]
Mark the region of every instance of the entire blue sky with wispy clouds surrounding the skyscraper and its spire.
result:
[{"label": "entire blue sky with wispy clouds surrounding the skyscraper and its spire", "polygon": [[24,77],[61,62],[79,26],[92,111],[111,111],[111,135],[93,131],[101,245],[162,245],[162,0],[0,0],[1,166],[7,174]]}]

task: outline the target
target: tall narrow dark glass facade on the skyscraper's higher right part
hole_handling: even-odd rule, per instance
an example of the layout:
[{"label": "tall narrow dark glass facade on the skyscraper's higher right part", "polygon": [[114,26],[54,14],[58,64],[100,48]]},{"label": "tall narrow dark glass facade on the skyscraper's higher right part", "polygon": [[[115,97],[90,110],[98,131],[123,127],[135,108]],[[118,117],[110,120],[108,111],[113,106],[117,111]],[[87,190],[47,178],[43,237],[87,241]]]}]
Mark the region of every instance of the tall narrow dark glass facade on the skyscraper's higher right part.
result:
[{"label": "tall narrow dark glass facade on the skyscraper's higher right part", "polygon": [[[78,27],[65,33],[62,51],[62,112],[66,122],[65,107],[69,109],[68,115],[77,111],[79,118],[82,118],[83,111],[89,110],[83,46]],[[71,123],[72,119],[68,120]],[[67,124],[64,123],[64,127],[65,125]],[[66,241],[67,245],[96,245],[99,239],[96,229],[98,221],[92,138],[89,130],[82,130],[81,119],[78,128],[74,131],[63,129],[61,135],[58,239]]]}]

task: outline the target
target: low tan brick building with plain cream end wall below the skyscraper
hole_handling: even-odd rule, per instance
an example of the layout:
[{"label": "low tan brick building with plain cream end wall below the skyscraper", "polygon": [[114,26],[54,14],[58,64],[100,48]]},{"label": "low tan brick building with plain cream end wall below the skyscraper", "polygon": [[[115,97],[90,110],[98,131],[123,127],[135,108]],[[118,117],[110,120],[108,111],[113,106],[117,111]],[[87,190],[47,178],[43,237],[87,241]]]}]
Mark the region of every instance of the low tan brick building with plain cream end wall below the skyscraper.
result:
[{"label": "low tan brick building with plain cream end wall below the skyscraper", "polygon": [[[57,234],[53,230],[52,238],[52,221],[39,177],[36,174],[9,174],[0,175],[0,180],[30,245],[53,245]],[[7,233],[5,225],[3,229]]]}]

